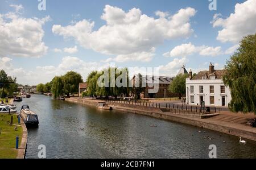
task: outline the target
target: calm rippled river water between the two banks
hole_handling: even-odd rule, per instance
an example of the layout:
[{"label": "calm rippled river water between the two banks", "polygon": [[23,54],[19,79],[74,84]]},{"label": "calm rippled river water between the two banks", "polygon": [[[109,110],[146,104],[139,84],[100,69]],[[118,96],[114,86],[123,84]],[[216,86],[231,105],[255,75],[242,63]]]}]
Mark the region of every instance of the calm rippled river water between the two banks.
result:
[{"label": "calm rippled river water between the two banks", "polygon": [[53,159],[209,158],[210,144],[216,145],[218,158],[256,158],[256,142],[247,140],[244,145],[236,136],[180,123],[97,110],[43,95],[15,104],[18,110],[27,104],[39,115],[39,128],[28,129],[26,158],[38,158],[41,144],[47,158]]}]

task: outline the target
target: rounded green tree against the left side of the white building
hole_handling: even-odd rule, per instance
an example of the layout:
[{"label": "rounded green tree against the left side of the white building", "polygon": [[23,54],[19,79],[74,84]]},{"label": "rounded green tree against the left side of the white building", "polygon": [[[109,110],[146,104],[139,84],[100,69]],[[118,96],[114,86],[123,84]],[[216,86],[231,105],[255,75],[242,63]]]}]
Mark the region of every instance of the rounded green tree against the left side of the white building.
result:
[{"label": "rounded green tree against the left side of the white building", "polygon": [[181,96],[186,93],[186,78],[188,78],[188,76],[188,74],[177,75],[169,86],[168,90],[171,93],[179,94],[179,99],[181,99]]}]

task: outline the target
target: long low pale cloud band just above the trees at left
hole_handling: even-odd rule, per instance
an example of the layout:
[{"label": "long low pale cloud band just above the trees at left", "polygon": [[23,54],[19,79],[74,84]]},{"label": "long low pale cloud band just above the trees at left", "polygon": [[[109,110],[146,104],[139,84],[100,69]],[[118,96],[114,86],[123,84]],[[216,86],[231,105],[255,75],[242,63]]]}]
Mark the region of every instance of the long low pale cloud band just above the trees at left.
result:
[{"label": "long low pale cloud band just above the trees at left", "polygon": [[[46,83],[52,80],[55,76],[61,76],[68,71],[75,71],[80,73],[86,79],[91,71],[100,71],[103,68],[108,68],[109,64],[102,64],[97,62],[86,62],[77,57],[66,56],[63,57],[61,63],[57,66],[46,65],[36,67],[34,70],[27,68],[16,68],[12,64],[12,59],[8,57],[0,58],[0,69],[6,71],[9,76],[17,78],[19,84],[36,85],[39,83]],[[39,78],[40,76],[40,78]]]}]

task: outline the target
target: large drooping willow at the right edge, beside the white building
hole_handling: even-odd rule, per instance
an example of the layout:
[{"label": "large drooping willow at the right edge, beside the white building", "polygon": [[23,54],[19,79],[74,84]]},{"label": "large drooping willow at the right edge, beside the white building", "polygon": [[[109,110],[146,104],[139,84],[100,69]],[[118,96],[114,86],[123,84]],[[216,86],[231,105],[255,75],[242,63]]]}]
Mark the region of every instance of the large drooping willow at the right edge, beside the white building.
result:
[{"label": "large drooping willow at the right edge, beside the white building", "polygon": [[229,109],[256,114],[256,34],[242,39],[225,69],[223,81],[232,96]]}]

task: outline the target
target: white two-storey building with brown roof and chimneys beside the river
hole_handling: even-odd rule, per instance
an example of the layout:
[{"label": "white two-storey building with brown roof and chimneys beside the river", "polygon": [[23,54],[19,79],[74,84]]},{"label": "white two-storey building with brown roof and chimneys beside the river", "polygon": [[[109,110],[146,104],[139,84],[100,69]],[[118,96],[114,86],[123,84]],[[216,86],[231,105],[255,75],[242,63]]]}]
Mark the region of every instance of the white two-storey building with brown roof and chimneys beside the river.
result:
[{"label": "white two-storey building with brown roof and chimneys beside the river", "polygon": [[212,63],[209,71],[199,72],[193,78],[192,71],[189,72],[186,80],[187,104],[201,105],[201,102],[205,102],[205,106],[228,106],[231,94],[222,81],[224,73],[225,70],[214,70]]}]

